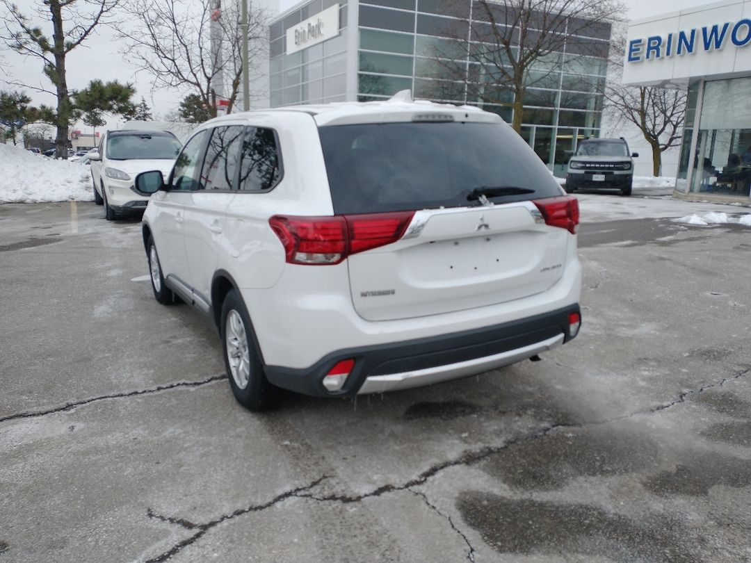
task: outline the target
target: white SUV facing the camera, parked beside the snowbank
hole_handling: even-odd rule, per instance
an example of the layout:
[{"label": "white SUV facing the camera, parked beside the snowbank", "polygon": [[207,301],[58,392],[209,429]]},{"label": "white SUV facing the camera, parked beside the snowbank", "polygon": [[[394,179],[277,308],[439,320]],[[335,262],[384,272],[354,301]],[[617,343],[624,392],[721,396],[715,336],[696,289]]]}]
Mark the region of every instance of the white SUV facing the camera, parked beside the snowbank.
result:
[{"label": "white SUV facing the camera, parked beside the snowbank", "polygon": [[107,131],[97,152],[89,155],[92,190],[97,205],[104,205],[104,217],[143,212],[149,194],[138,191],[133,183],[137,173],[161,170],[170,173],[182,144],[167,131]]}]

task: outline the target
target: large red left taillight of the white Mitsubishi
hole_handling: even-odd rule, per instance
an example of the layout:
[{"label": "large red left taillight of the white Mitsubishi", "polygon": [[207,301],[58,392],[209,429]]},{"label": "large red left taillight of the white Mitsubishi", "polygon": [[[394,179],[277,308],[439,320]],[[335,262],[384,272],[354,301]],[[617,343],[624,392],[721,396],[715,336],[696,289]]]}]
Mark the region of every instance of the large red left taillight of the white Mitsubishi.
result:
[{"label": "large red left taillight of the white Mitsubishi", "polygon": [[413,211],[300,217],[274,215],[269,224],[293,264],[337,264],[348,257],[402,238]]}]

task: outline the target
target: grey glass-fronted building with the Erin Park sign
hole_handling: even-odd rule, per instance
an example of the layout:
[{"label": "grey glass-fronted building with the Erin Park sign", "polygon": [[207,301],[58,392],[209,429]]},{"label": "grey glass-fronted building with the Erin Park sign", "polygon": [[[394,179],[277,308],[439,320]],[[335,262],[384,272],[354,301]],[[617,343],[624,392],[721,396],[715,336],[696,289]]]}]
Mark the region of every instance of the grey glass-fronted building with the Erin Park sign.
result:
[{"label": "grey glass-fronted building with the Erin Park sign", "polygon": [[[611,26],[574,20],[568,31],[581,32],[535,62],[524,98],[521,135],[558,176],[578,140],[600,136],[608,68]],[[512,92],[497,85],[492,65],[478,63],[478,51],[491,51],[490,25],[472,0],[303,2],[270,25],[270,107],[387,99],[409,89],[511,122]]]}]

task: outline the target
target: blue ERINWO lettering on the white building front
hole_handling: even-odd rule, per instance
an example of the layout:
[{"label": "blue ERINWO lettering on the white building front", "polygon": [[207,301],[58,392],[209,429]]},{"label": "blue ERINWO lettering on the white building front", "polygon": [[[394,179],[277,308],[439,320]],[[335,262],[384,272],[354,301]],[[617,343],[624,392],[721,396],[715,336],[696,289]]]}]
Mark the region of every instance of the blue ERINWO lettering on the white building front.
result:
[{"label": "blue ERINWO lettering on the white building front", "polygon": [[736,24],[716,23],[713,26],[687,29],[685,31],[629,41],[626,53],[628,62],[650,61],[672,56],[693,55],[700,51],[719,51],[728,44],[746,47],[751,44],[751,20],[740,20]]}]

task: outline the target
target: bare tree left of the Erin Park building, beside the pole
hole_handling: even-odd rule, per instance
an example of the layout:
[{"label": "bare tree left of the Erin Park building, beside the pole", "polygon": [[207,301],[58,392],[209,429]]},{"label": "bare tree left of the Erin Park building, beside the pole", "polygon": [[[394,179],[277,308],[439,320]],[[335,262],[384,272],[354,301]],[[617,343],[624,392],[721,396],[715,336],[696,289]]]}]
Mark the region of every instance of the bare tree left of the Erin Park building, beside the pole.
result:
[{"label": "bare tree left of the Erin Park building, beside the pole", "polygon": [[[228,100],[228,112],[240,92],[242,35],[237,5],[182,0],[128,0],[130,30],[120,30],[123,55],[154,78],[155,89],[189,90],[201,99],[210,116],[216,116],[217,95]],[[267,16],[262,10],[249,14],[249,67],[258,68],[267,49]],[[214,32],[212,32],[212,22]],[[212,49],[211,41],[220,48]],[[216,92],[219,77],[225,92]]]}]

